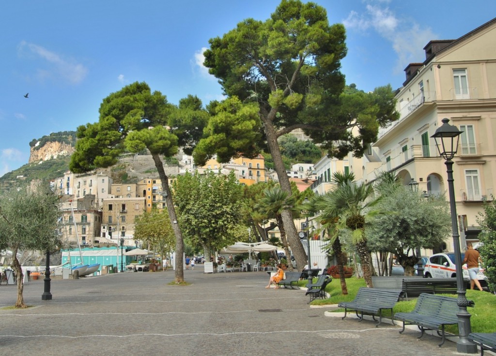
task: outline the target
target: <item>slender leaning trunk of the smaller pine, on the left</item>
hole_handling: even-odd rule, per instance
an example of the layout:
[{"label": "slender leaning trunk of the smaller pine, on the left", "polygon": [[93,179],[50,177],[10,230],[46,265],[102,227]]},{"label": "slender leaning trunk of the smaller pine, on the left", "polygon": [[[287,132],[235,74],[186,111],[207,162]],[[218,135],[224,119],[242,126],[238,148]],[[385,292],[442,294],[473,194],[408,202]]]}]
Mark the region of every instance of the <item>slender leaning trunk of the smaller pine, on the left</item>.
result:
[{"label": "slender leaning trunk of the smaller pine, on the left", "polygon": [[176,274],[175,282],[183,283],[184,280],[184,270],[183,270],[183,254],[184,254],[184,240],[181,228],[178,224],[178,217],[176,215],[176,210],[174,209],[174,202],[172,201],[171,190],[169,189],[169,178],[165,174],[164,165],[160,160],[158,154],[152,154],[153,161],[155,162],[155,167],[157,168],[160,180],[162,181],[162,191],[167,194],[165,197],[165,202],[167,204],[167,212],[169,213],[169,218],[171,219],[172,229],[174,230],[174,235],[176,236],[176,259],[174,263],[176,264]]}]

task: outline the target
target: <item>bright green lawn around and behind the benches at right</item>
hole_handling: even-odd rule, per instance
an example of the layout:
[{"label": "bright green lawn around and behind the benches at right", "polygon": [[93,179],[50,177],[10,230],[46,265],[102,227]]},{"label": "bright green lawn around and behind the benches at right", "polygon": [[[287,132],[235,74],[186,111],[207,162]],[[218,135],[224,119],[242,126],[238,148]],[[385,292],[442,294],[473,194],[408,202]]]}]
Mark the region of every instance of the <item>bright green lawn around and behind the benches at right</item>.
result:
[{"label": "bright green lawn around and behind the benches at right", "polygon": [[[302,283],[304,282],[304,283]],[[298,285],[305,286],[306,281],[300,281]],[[341,283],[339,280],[334,280],[327,285],[325,291],[329,293],[330,297],[328,299],[315,299],[310,304],[311,305],[330,305],[337,304],[342,301],[352,301],[355,299],[355,295],[360,287],[364,287],[365,280],[357,278],[349,278],[346,280],[346,286],[348,287],[348,295],[343,295],[341,293]],[[456,298],[456,294],[441,294]],[[479,290],[467,290],[467,299],[473,300],[475,306],[467,308],[468,312],[472,315],[470,318],[470,324],[473,333],[494,333],[496,330],[496,295],[488,292],[481,292]],[[415,307],[417,299],[399,301],[393,308],[395,313],[399,312],[410,312]],[[334,311],[334,310],[333,310]],[[344,309],[335,310],[344,311]],[[384,311],[384,315],[388,315],[388,311]],[[389,313],[390,316],[390,313]],[[446,332],[452,334],[458,334],[457,325],[446,326]]]}]

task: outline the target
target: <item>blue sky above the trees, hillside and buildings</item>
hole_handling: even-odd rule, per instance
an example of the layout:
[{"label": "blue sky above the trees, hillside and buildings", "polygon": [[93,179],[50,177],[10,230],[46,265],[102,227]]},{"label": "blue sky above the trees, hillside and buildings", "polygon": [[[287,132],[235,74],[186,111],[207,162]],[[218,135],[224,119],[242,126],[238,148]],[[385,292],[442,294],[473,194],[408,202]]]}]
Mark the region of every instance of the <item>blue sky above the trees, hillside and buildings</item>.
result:
[{"label": "blue sky above the trees, hillside and buildings", "polygon": [[[0,176],[27,163],[29,142],[98,121],[102,99],[134,81],[177,104],[222,98],[202,67],[208,40],[245,18],[266,20],[279,0],[51,0],[0,2]],[[491,20],[496,1],[316,0],[344,23],[347,83],[401,86],[434,39]],[[29,93],[29,98],[24,94]]]}]

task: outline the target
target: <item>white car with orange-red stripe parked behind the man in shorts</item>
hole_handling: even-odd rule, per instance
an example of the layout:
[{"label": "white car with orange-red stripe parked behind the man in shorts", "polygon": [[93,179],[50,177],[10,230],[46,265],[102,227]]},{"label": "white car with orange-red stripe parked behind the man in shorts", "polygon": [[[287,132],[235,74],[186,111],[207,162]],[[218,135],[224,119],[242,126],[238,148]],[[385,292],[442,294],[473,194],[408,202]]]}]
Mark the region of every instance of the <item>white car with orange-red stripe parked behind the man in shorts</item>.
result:
[{"label": "white car with orange-red stripe parked behind the man in shorts", "polygon": [[[462,261],[465,254],[461,254]],[[463,279],[469,280],[467,265],[462,266]],[[456,277],[456,265],[454,252],[436,253],[429,257],[429,261],[424,267],[424,275],[427,278],[454,278]],[[486,275],[484,269],[480,269],[477,274],[479,281],[484,281],[486,285]],[[482,284],[481,284],[482,285]]]}]

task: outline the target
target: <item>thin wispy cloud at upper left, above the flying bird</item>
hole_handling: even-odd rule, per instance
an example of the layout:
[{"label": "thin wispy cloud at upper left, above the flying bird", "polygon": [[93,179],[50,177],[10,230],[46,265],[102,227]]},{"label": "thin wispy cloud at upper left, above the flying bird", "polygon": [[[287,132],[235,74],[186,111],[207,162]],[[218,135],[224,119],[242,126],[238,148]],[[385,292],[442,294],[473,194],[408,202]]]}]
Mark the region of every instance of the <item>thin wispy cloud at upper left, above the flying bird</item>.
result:
[{"label": "thin wispy cloud at upper left, above the flying bird", "polygon": [[71,84],[78,84],[84,80],[88,73],[88,69],[74,59],[65,59],[61,55],[34,43],[22,41],[18,46],[18,54],[21,57],[31,55],[43,60],[48,68],[37,69],[37,77],[40,80],[54,78],[62,79]]}]

